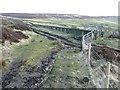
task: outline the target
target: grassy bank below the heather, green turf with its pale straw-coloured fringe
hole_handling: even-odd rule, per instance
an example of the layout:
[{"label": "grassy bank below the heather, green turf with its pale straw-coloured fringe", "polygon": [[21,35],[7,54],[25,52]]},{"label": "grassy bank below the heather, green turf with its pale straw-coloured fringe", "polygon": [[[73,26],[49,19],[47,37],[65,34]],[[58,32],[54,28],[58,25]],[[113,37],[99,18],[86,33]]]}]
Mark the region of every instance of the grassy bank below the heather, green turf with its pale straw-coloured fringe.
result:
[{"label": "grassy bank below the heather, green turf with its pale straw-coloured fringe", "polygon": [[[49,52],[52,48],[56,48],[58,43],[51,41],[46,37],[37,35],[30,31],[23,32],[29,36],[28,40],[22,40],[20,43],[13,44],[7,52],[7,55],[3,57],[6,62],[5,70],[9,68],[9,65],[18,57],[25,59],[25,65],[36,64],[42,57]],[[11,51],[10,51],[11,50]],[[4,71],[4,69],[3,69]]]}]

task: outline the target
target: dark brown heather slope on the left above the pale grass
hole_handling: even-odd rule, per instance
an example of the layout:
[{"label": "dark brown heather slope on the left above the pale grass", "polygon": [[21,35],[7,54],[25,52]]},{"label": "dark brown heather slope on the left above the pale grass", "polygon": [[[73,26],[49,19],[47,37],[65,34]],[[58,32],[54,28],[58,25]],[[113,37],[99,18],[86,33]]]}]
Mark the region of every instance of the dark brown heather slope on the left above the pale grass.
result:
[{"label": "dark brown heather slope on the left above the pale grass", "polygon": [[[28,39],[29,37],[23,34],[21,31],[30,30],[30,27],[23,21],[2,18],[2,25],[0,26],[0,43],[4,44],[5,41],[19,42],[21,39]],[[13,31],[14,29],[21,31]]]}]

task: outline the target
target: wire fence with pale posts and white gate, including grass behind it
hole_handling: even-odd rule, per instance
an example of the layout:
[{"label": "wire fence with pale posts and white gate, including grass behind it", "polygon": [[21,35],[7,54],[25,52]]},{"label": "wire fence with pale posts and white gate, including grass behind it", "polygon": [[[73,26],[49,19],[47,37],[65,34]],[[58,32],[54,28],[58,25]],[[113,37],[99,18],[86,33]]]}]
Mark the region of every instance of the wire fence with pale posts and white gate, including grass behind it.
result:
[{"label": "wire fence with pale posts and white gate, including grass behind it", "polygon": [[106,61],[97,50],[91,47],[92,38],[92,32],[83,35],[82,38],[83,55],[89,67],[91,81],[96,88],[117,88],[118,67]]}]

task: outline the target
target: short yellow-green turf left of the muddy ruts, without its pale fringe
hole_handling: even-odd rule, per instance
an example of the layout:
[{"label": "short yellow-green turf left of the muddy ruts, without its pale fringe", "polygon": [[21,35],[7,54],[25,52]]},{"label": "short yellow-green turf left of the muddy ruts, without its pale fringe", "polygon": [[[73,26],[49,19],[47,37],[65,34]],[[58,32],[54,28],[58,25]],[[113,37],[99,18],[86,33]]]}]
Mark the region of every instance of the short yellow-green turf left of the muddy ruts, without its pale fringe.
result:
[{"label": "short yellow-green turf left of the muddy ruts, without its pale fringe", "polygon": [[29,44],[15,47],[14,56],[24,55],[26,64],[34,65],[52,48],[58,46],[56,41],[51,41],[46,37],[33,35]]}]

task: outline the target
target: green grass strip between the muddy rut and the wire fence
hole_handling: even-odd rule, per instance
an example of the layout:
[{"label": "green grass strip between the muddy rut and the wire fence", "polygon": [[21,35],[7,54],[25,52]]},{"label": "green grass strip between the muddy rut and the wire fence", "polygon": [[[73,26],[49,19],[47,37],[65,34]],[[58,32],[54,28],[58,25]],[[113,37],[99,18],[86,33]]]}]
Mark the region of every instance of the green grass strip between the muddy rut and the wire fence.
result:
[{"label": "green grass strip between the muddy rut and the wire fence", "polygon": [[[79,51],[79,52],[78,52]],[[82,87],[76,78],[89,75],[86,61],[82,58],[80,49],[64,49],[55,58],[48,80],[43,84],[45,88]]]}]

